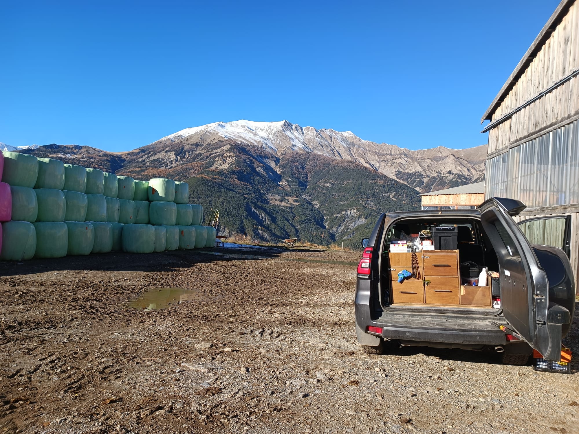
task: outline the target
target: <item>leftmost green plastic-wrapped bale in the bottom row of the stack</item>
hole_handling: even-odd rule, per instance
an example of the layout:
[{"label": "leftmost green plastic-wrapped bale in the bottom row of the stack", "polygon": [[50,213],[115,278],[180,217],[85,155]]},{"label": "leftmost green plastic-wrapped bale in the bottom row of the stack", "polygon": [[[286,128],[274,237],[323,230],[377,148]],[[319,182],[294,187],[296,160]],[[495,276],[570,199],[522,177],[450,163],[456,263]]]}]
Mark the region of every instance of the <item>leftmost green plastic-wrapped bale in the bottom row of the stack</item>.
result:
[{"label": "leftmost green plastic-wrapped bale in the bottom row of the stack", "polygon": [[36,229],[30,222],[2,223],[3,261],[21,261],[34,257],[36,251]]}]

